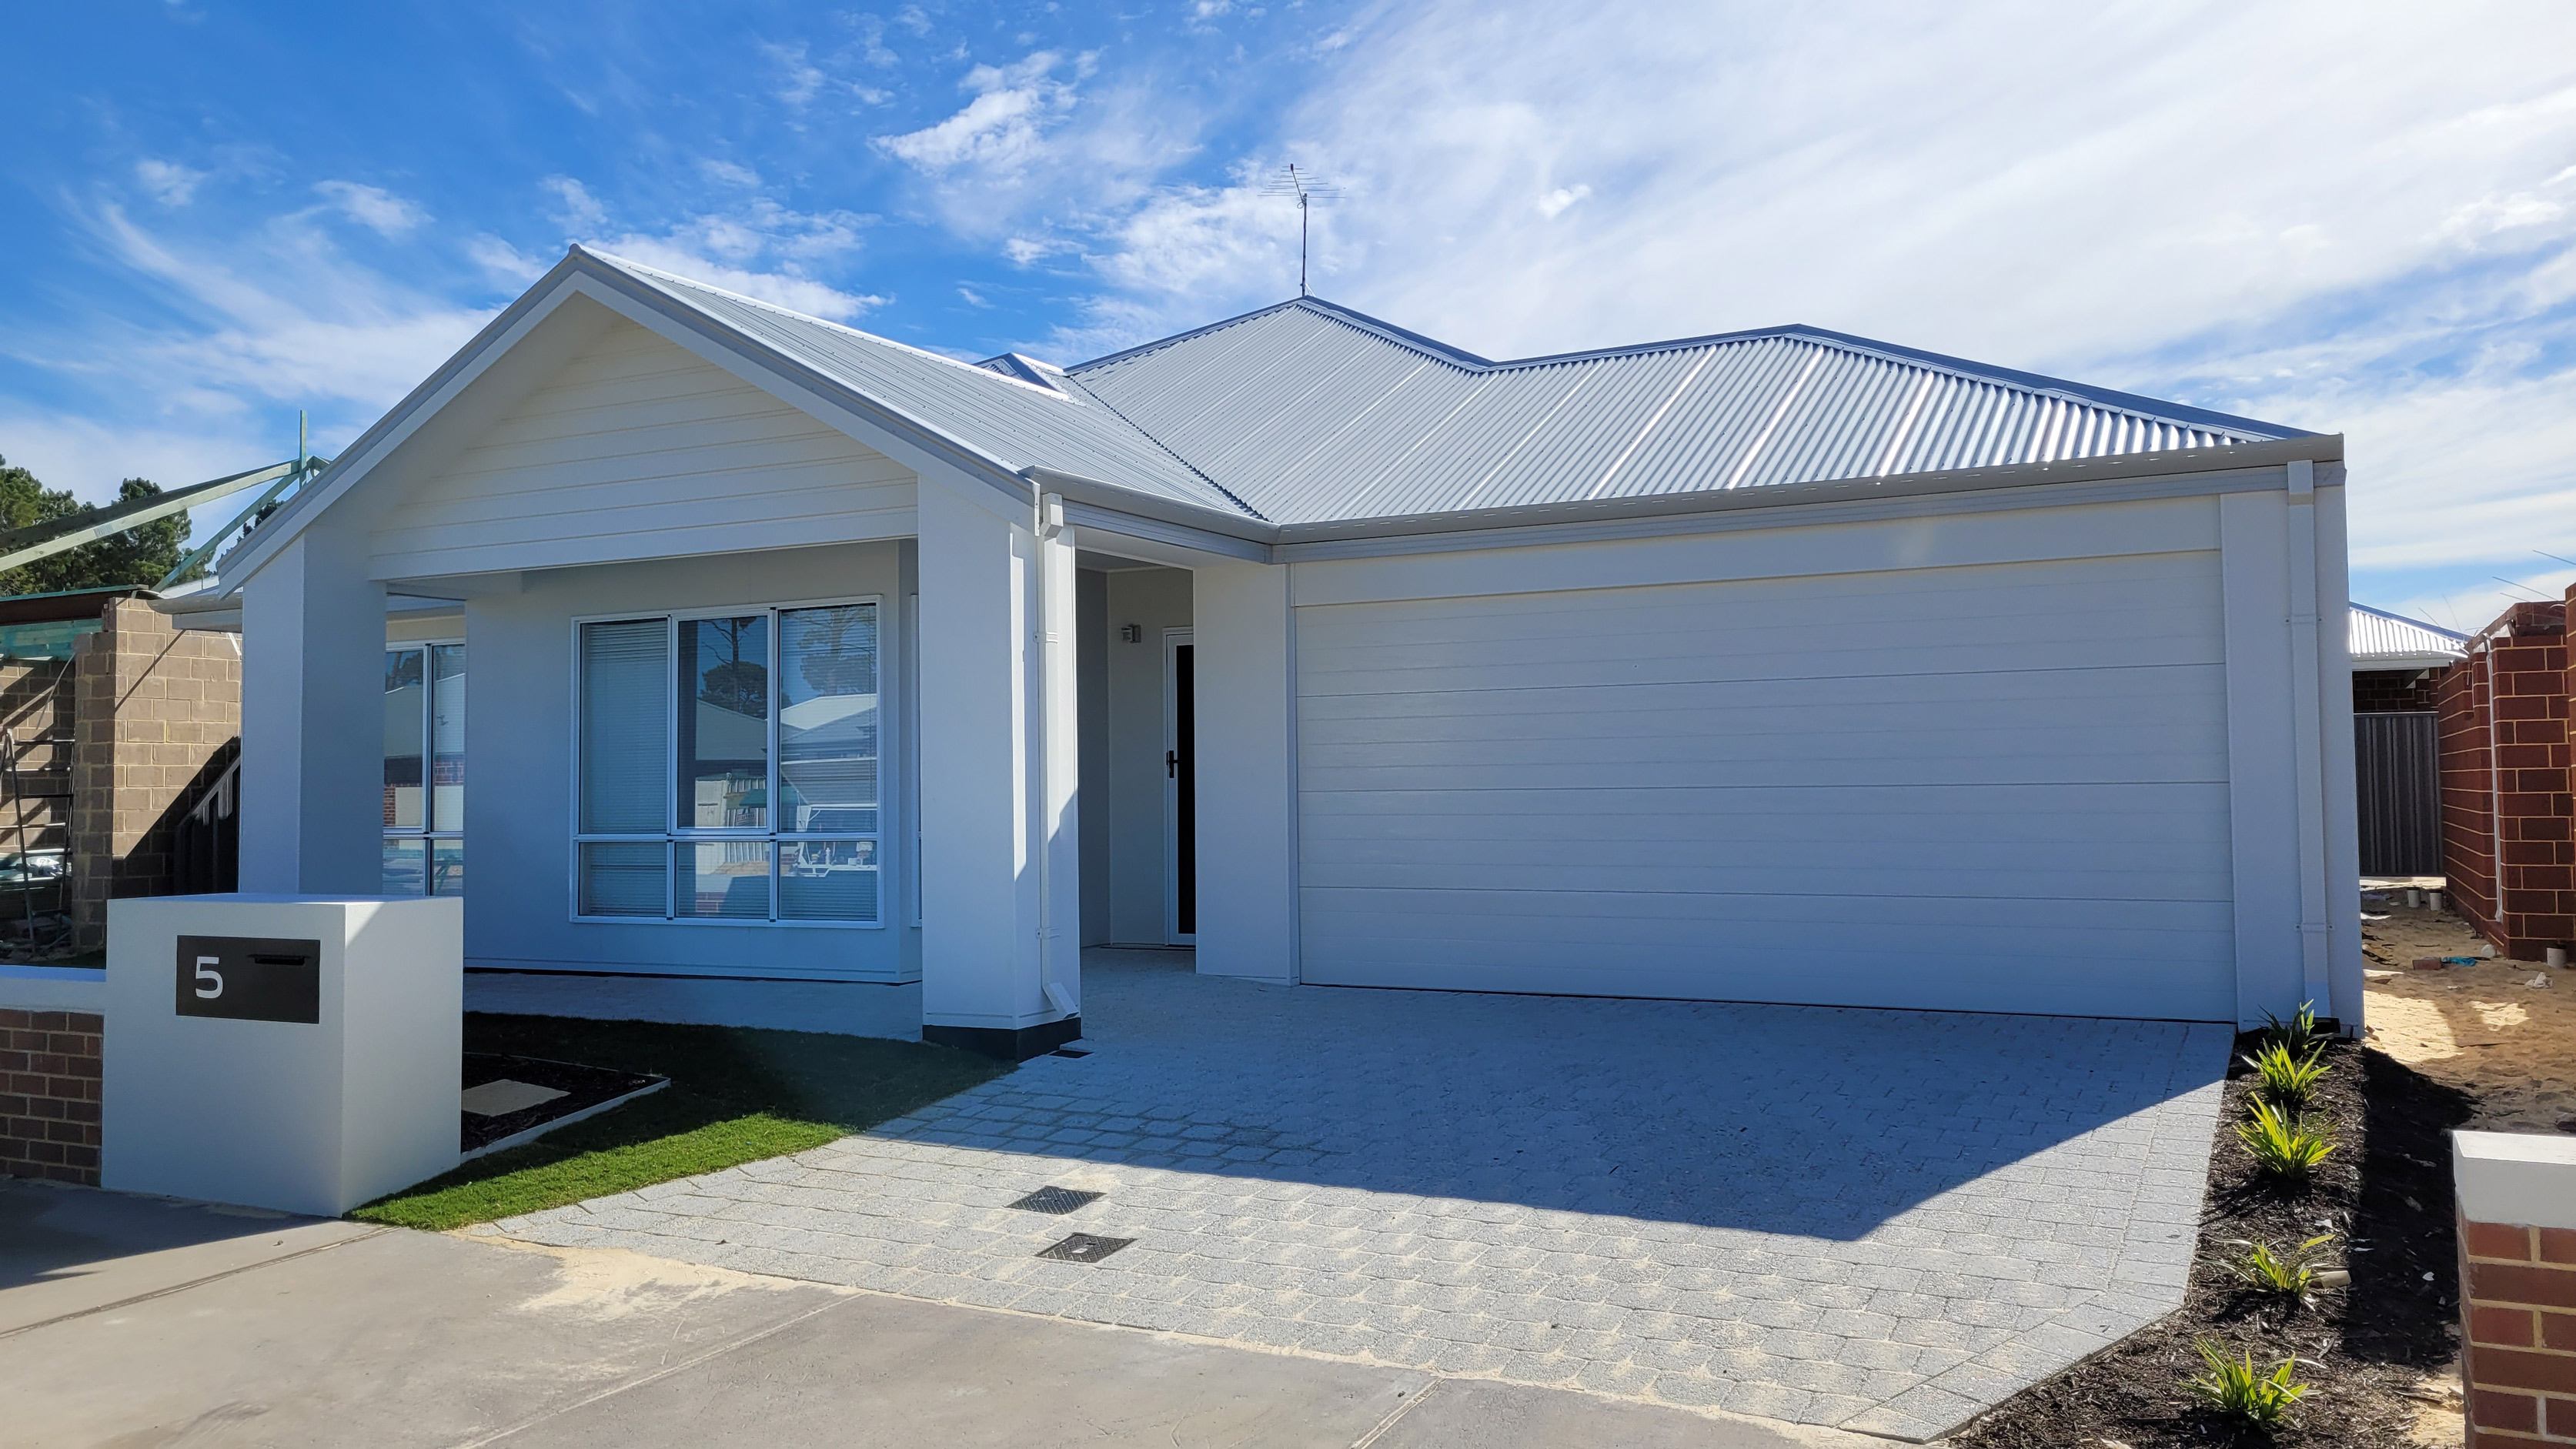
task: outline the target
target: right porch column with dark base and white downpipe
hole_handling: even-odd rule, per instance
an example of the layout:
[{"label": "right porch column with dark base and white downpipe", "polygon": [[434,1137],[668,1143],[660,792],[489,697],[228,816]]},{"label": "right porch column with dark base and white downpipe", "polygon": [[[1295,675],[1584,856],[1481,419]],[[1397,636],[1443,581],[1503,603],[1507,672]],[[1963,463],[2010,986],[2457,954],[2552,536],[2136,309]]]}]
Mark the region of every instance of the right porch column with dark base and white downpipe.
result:
[{"label": "right porch column with dark base and white downpipe", "polygon": [[922,1040],[1023,1060],[1082,1035],[1082,736],[1072,540],[1007,507],[920,484]]}]

